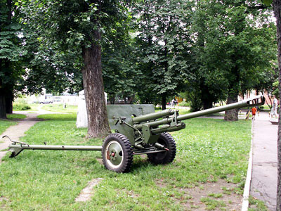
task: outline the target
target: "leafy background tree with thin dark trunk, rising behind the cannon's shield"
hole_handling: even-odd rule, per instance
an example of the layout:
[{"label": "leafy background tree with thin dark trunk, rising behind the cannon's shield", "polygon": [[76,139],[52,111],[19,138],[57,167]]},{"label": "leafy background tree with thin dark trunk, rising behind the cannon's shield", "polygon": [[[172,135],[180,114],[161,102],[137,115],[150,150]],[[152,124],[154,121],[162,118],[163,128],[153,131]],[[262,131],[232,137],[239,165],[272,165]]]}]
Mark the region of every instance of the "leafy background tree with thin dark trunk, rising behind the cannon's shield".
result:
[{"label": "leafy background tree with thin dark trunk, rising behind the cannon's shield", "polygon": [[140,1],[133,13],[137,20],[138,68],[143,72],[145,95],[166,98],[180,91],[190,77],[190,16],[192,2]]}]

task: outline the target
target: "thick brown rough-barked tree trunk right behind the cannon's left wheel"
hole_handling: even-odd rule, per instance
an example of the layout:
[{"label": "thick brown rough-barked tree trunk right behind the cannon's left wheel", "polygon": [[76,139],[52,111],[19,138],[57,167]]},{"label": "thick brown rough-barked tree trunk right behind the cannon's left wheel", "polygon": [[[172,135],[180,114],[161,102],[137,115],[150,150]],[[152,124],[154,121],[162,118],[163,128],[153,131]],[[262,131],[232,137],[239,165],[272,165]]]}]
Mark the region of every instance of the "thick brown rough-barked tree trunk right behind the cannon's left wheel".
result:
[{"label": "thick brown rough-barked tree trunk right behind the cannon's left wheel", "polygon": [[83,49],[84,68],[82,70],[88,113],[88,136],[105,138],[110,134],[105,105],[103,76],[101,70],[100,32],[94,32],[96,41],[89,48]]}]

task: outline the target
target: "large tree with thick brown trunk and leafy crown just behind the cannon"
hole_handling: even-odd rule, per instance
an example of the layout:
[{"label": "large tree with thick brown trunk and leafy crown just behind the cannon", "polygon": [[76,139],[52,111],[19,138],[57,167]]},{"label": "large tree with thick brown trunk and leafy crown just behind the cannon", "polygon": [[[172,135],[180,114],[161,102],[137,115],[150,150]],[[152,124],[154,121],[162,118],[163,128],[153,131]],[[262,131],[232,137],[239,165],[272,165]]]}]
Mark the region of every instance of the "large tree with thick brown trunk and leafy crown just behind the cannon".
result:
[{"label": "large tree with thick brown trunk and leafy crown just behind the cannon", "polygon": [[122,2],[34,0],[23,3],[22,11],[28,15],[22,21],[39,32],[38,38],[47,49],[81,52],[88,136],[106,136],[110,129],[101,70],[102,33],[112,22],[124,17]]}]

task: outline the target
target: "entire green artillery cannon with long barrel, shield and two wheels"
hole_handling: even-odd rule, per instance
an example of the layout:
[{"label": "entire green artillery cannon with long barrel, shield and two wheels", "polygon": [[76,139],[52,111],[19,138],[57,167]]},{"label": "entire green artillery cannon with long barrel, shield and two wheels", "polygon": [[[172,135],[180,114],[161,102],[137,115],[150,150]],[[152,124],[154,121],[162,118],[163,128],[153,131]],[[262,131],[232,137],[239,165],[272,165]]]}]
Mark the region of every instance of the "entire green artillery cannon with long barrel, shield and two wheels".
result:
[{"label": "entire green artillery cannon with long barrel, shield and two wheels", "polygon": [[102,151],[103,164],[107,170],[129,172],[133,155],[147,154],[153,164],[173,162],[176,156],[176,142],[168,132],[185,128],[183,120],[218,113],[235,108],[260,106],[263,96],[247,98],[226,106],[209,108],[194,113],[178,115],[178,110],[163,110],[155,113],[153,105],[108,105],[107,117],[114,134],[108,135],[103,146],[50,146],[30,145],[12,141],[10,158],[25,149],[63,151]]}]

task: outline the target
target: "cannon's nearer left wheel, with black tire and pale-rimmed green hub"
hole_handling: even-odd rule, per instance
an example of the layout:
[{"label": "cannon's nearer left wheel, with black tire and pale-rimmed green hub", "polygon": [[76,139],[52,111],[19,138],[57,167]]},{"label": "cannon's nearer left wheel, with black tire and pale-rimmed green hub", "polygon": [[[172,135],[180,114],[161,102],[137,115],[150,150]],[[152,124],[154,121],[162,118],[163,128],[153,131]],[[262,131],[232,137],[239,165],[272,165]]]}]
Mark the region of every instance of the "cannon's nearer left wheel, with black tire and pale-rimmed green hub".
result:
[{"label": "cannon's nearer left wheel, with black tire and pale-rimmed green hub", "polygon": [[107,170],[129,172],[133,162],[133,151],[129,139],[123,134],[110,134],[103,141],[103,165]]}]

